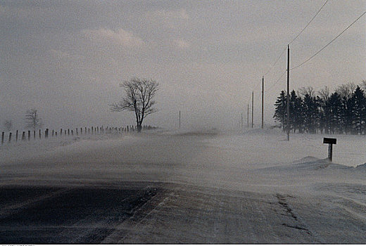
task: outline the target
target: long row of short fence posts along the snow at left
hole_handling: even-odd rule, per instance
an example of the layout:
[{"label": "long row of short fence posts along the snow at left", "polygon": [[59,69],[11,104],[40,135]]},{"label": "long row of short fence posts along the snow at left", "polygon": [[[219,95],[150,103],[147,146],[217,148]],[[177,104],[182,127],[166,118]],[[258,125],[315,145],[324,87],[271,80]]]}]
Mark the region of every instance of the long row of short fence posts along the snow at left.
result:
[{"label": "long row of short fence posts along the snow at left", "polygon": [[[141,131],[156,129],[157,127],[151,127],[149,126],[142,126]],[[75,130],[75,131],[74,131]],[[80,130],[80,131],[79,131]],[[84,130],[84,131],[83,131]],[[51,137],[55,138],[57,136],[85,136],[85,135],[95,135],[95,134],[123,134],[127,132],[133,132],[137,131],[137,127],[134,126],[126,126],[126,127],[80,127],[80,128],[73,128],[73,129],[60,129],[59,134],[58,131],[55,129],[52,129]],[[22,137],[18,139],[18,132],[22,133]],[[27,134],[27,135],[26,135]],[[5,142],[11,143],[12,141],[18,142],[18,141],[31,141],[33,135],[33,140],[36,139],[36,131],[33,130],[33,134],[30,130],[27,131],[15,131],[15,138],[12,138],[13,131],[9,131],[8,134],[6,134],[5,131],[1,132],[1,145],[4,145]],[[26,138],[27,136],[27,138]],[[45,139],[49,138],[49,128],[46,128],[44,131],[42,129],[39,129],[38,133],[39,139]]]}]

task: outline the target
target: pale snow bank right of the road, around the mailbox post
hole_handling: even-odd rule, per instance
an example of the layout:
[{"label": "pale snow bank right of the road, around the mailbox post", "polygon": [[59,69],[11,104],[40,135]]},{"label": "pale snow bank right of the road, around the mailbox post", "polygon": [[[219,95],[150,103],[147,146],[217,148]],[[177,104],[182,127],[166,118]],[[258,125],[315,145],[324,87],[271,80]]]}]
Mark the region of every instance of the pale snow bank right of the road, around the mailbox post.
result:
[{"label": "pale snow bank right of the road, around the mailbox post", "polygon": [[337,138],[333,145],[333,162],[356,167],[366,162],[365,136],[286,134],[280,129],[254,129],[241,134],[220,134],[210,138],[208,144],[228,150],[230,155],[240,157],[245,163],[273,164],[294,162],[303,157],[313,156],[324,159],[328,156],[328,145],[323,138]]}]

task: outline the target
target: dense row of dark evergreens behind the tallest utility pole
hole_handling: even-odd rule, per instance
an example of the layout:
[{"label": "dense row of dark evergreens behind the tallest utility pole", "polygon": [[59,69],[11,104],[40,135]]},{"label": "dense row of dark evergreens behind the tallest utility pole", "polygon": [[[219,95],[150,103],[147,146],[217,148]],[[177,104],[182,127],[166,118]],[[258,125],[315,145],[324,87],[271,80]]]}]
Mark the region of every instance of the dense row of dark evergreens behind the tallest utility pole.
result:
[{"label": "dense row of dark evergreens behind the tallest utility pole", "polygon": [[[366,134],[366,80],[338,86],[333,93],[325,87],[315,91],[302,87],[289,96],[289,128],[298,133]],[[287,130],[287,96],[281,91],[274,103],[274,119]]]}]

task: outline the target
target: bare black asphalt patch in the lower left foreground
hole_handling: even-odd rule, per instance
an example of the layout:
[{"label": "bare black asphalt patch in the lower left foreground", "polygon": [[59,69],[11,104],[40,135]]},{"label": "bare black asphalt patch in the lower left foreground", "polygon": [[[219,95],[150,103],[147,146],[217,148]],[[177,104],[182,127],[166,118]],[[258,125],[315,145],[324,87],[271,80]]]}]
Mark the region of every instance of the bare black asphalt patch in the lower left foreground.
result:
[{"label": "bare black asphalt patch in the lower left foreground", "polygon": [[[62,191],[62,192],[61,192]],[[0,188],[13,199],[0,216],[0,243],[99,243],[136,212],[153,207],[160,188]],[[32,194],[33,193],[33,194]],[[6,203],[6,201],[3,201]],[[145,211],[146,213],[146,211]]]}]

